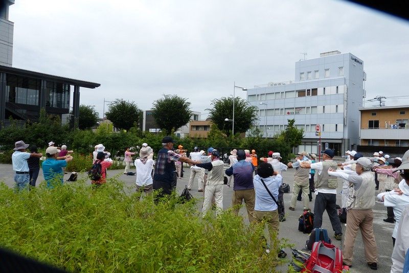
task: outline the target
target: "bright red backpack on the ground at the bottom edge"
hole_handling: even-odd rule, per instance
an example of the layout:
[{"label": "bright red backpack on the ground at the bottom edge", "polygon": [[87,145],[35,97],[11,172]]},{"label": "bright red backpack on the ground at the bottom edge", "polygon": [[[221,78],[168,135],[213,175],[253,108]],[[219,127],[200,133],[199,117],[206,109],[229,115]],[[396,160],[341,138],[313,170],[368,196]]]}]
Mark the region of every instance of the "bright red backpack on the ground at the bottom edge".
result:
[{"label": "bright red backpack on the ground at the bottom edge", "polygon": [[312,245],[311,257],[305,262],[301,272],[340,273],[348,270],[342,264],[342,251],[335,245],[319,241]]}]

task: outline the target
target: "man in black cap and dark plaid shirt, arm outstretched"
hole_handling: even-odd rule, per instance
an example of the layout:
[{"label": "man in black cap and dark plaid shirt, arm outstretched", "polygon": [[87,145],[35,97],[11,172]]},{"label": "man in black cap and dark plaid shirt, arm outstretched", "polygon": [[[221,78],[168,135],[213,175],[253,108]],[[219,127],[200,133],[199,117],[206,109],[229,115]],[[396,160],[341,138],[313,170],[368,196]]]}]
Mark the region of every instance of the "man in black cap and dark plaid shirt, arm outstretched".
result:
[{"label": "man in black cap and dark plaid shirt, arm outstretched", "polygon": [[165,137],[162,139],[163,148],[157,152],[155,173],[153,175],[153,189],[162,189],[162,193],[158,197],[162,197],[165,194],[169,195],[176,188],[175,161],[186,162],[190,165],[196,164],[190,158],[175,153],[172,150],[173,144],[174,141],[171,137]]}]

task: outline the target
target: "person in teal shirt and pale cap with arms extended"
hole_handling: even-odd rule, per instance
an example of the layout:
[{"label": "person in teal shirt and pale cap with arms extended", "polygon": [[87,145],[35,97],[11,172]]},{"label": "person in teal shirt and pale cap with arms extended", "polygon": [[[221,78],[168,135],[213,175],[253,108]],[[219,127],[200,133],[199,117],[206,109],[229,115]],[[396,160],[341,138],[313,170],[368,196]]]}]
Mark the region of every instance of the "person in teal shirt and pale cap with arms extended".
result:
[{"label": "person in teal shirt and pale cap with arms extended", "polygon": [[64,172],[62,168],[67,166],[67,163],[73,160],[71,155],[65,155],[64,160],[57,160],[58,150],[57,147],[50,146],[46,150],[47,159],[42,163],[42,173],[44,180],[47,181],[47,188],[52,189],[54,183],[64,182]]}]

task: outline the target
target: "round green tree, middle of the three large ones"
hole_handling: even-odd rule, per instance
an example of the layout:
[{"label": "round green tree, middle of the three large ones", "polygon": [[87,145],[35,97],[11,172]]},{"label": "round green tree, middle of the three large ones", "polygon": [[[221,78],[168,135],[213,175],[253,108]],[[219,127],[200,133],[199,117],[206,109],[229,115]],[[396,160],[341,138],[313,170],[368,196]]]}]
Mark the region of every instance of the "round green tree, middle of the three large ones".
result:
[{"label": "round green tree, middle of the three large ones", "polygon": [[190,121],[190,102],[177,95],[164,95],[162,99],[153,102],[152,116],[157,125],[169,135]]}]

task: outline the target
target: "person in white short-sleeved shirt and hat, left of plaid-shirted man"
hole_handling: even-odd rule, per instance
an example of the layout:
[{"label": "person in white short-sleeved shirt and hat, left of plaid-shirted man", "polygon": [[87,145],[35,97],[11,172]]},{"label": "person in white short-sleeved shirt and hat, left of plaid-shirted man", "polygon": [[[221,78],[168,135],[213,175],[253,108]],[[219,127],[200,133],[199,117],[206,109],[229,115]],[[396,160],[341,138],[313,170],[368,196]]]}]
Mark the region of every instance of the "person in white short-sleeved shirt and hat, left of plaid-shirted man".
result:
[{"label": "person in white short-sleeved shirt and hat, left of plaid-shirted man", "polygon": [[137,192],[145,192],[146,194],[152,192],[153,180],[151,172],[154,162],[152,158],[148,158],[151,152],[150,147],[142,147],[139,151],[139,158],[134,162],[137,168]]}]

